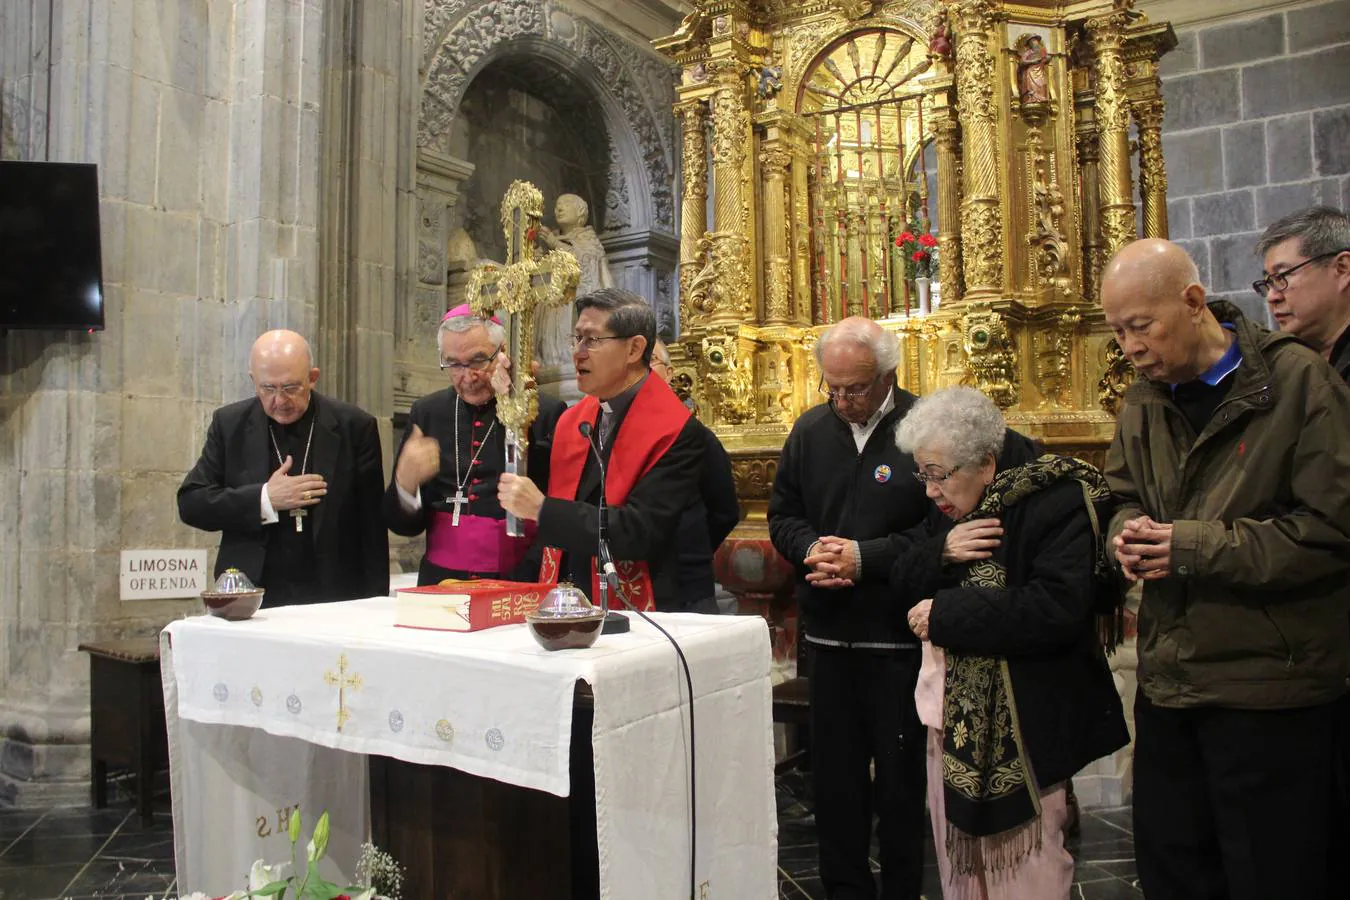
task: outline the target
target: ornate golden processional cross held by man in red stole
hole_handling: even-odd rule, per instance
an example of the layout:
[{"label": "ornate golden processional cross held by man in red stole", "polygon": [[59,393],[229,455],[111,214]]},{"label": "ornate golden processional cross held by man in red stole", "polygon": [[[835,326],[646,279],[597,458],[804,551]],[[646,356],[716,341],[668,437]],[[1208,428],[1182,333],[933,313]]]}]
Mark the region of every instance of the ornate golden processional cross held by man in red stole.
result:
[{"label": "ornate golden processional cross held by man in red stole", "polygon": [[[531,374],[535,359],[535,325],[540,306],[562,306],[576,294],[582,270],[566,250],[535,256],[535,239],[544,216],[544,194],[528,181],[513,181],[502,197],[502,231],[506,264],[474,269],[464,300],[475,316],[495,312],[509,316],[506,354],[510,356],[510,387],[497,395],[497,418],[506,429],[506,472],[525,475],[529,425],[539,414],[539,390]],[[459,509],[456,507],[456,513]],[[506,514],[506,533],[521,537],[520,521]]]}]

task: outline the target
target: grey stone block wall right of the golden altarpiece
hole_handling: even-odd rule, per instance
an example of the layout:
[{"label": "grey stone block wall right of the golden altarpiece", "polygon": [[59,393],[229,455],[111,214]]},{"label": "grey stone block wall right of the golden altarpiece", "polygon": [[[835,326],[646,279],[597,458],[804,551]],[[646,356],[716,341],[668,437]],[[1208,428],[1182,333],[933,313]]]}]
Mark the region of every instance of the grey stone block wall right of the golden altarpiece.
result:
[{"label": "grey stone block wall right of the golden altarpiece", "polygon": [[1177,30],[1162,61],[1172,237],[1258,321],[1261,231],[1350,206],[1350,0]]}]

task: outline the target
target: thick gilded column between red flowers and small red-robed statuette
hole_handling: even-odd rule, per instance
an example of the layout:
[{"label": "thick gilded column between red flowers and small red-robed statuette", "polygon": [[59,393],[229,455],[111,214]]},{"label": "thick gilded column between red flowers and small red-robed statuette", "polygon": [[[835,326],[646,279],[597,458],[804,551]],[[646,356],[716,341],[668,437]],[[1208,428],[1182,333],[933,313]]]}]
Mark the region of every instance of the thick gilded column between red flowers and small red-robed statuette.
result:
[{"label": "thick gilded column between red flowers and small red-robed statuette", "polygon": [[[965,136],[961,181],[961,269],[967,298],[1003,293],[998,119],[994,108],[992,0],[961,0],[956,19],[956,96]],[[944,298],[945,300],[945,298]]]}]

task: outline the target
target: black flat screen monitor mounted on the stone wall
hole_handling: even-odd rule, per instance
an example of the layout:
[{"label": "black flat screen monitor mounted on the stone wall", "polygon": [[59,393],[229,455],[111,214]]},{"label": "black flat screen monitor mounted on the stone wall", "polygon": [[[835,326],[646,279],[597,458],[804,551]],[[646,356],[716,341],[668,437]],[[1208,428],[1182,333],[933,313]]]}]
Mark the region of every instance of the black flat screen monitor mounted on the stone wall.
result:
[{"label": "black flat screen monitor mounted on the stone wall", "polygon": [[97,166],[0,161],[0,328],[103,329]]}]

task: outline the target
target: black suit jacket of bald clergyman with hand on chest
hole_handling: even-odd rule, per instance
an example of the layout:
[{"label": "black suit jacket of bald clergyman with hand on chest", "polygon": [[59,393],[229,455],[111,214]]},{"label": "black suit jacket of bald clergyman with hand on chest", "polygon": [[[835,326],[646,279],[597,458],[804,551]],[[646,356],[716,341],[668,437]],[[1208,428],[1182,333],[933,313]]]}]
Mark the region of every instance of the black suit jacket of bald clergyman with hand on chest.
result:
[{"label": "black suit jacket of bald clergyman with hand on chest", "polygon": [[[310,507],[317,582],[325,599],[389,594],[389,532],[379,514],[385,490],[379,428],[369,413],[313,394],[315,437],[308,471],[323,475],[328,494]],[[204,532],[221,532],[216,575],[238,568],[262,583],[267,540],[281,522],[262,525],[262,488],[275,468],[267,414],[256,398],[215,412],[201,457],[178,487],[178,517]],[[292,470],[298,474],[297,467]],[[266,587],[266,586],[263,586]]]}]

